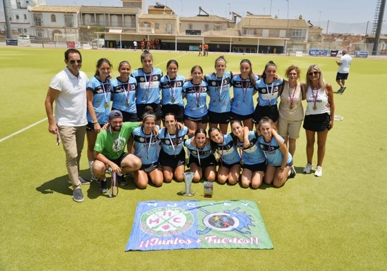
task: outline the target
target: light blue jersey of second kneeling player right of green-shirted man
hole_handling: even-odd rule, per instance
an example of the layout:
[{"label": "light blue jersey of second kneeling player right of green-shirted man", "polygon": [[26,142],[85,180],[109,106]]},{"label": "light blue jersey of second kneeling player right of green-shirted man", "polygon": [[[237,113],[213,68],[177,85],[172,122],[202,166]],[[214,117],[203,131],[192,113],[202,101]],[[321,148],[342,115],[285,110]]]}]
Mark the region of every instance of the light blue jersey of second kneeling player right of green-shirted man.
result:
[{"label": "light blue jersey of second kneeling player right of green-shirted man", "polygon": [[168,133],[168,129],[163,127],[159,131],[157,138],[161,141],[161,148],[168,155],[176,155],[183,150],[184,137],[188,134],[188,128],[176,130],[177,134]]}]

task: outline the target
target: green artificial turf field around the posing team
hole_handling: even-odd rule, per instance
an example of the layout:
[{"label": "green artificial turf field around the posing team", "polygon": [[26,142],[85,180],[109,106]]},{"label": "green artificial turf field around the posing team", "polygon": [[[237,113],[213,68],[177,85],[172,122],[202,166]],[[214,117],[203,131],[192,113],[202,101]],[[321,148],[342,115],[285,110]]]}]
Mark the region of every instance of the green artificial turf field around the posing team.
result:
[{"label": "green artificial turf field around the posing team", "polygon": [[[48,83],[64,68],[65,50],[0,48],[0,270],[386,270],[386,60],[353,60],[346,92],[335,94],[335,114],[344,120],[335,121],[328,134],[322,177],[301,173],[306,163],[301,129],[294,158],[298,174],[284,187],[262,185],[252,190],[215,183],[211,200],[257,202],[273,250],[123,252],[137,202],[186,200],[177,194],[183,183],[172,181],[161,188],[149,185],[146,190],[130,183],[114,199],[99,194],[99,186],[92,183],[83,185],[83,203],[72,201],[63,149],[57,147],[44,121]],[[119,61],[130,61],[132,69],[140,66],[139,51],[81,52],[82,70],[89,77],[101,57],[113,63],[114,76]],[[166,61],[177,59],[179,74],[185,76],[196,64],[205,73],[213,72],[220,55],[152,53],[154,65],[164,72]],[[225,57],[228,70],[238,71],[241,59],[248,58],[259,74],[268,61],[275,61],[282,77],[294,63],[303,71],[301,81],[308,66],[318,63],[334,90],[339,88],[337,65],[331,57]],[[316,163],[316,151],[314,158]],[[86,143],[81,175],[90,176]],[[197,195],[190,199],[205,200],[202,183],[194,183],[193,189]]]}]

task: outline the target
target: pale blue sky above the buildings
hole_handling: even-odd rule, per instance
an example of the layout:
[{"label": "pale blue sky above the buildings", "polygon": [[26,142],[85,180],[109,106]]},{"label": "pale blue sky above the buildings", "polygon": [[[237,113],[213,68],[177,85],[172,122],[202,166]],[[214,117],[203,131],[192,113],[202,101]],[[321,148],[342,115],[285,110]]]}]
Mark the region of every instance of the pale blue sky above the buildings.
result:
[{"label": "pale blue sky above the buildings", "polygon": [[[245,16],[246,12],[253,14],[277,14],[280,19],[296,19],[300,14],[306,19],[324,24],[329,20],[337,23],[373,22],[377,0],[368,1],[305,1],[305,0],[146,0],[146,7],[159,2],[169,6],[177,14],[191,17],[199,14],[199,6],[209,14],[230,19],[230,11]],[[119,0],[46,0],[48,5],[86,5],[86,6],[121,6]],[[288,9],[289,6],[289,9]],[[271,11],[271,12],[270,12]],[[386,12],[385,12],[386,13]],[[384,16],[386,18],[386,14]]]}]

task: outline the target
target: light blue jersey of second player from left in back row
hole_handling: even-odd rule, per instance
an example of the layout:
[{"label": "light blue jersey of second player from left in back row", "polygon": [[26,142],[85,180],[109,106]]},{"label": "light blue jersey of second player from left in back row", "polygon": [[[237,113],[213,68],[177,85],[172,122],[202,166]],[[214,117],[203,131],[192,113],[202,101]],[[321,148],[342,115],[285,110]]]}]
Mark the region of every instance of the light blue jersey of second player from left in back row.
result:
[{"label": "light blue jersey of second player from left in back row", "polygon": [[136,114],[136,79],[129,77],[128,81],[121,82],[117,77],[112,79],[110,86],[112,87],[112,108]]}]

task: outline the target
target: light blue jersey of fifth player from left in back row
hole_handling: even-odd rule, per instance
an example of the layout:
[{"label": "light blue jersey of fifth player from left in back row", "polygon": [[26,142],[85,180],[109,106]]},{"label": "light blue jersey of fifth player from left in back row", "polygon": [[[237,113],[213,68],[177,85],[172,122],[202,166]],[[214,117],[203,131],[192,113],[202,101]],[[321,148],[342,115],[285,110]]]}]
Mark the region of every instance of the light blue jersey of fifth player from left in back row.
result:
[{"label": "light blue jersey of fifth player from left in back row", "polygon": [[184,114],[192,118],[204,117],[208,113],[207,91],[206,81],[202,80],[199,85],[194,85],[192,81],[184,83],[183,94],[186,95],[187,99]]}]

